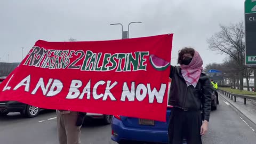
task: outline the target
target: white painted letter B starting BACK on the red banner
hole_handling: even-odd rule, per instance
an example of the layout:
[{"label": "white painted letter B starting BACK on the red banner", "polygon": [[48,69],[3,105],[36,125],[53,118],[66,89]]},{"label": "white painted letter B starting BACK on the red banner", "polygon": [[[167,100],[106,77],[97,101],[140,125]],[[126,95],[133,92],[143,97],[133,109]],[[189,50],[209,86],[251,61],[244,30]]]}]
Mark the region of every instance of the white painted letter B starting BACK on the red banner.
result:
[{"label": "white painted letter B starting BACK on the red banner", "polygon": [[76,99],[80,94],[80,91],[78,90],[78,88],[81,86],[82,86],[81,81],[73,80],[69,87],[69,92],[68,92],[66,99]]}]

